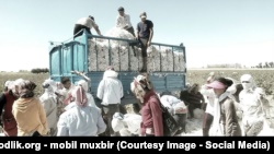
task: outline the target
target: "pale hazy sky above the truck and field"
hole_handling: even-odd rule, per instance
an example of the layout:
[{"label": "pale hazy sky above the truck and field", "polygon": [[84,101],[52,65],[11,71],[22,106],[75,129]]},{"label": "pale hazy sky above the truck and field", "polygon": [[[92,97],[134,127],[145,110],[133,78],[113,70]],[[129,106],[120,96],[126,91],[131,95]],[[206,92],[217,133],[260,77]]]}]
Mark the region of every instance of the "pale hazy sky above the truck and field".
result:
[{"label": "pale hazy sky above the truck and field", "polygon": [[119,7],[135,28],[147,12],[153,43],[183,43],[187,68],[274,61],[274,0],[0,0],[0,71],[49,68],[49,42],[88,15],[104,35]]}]

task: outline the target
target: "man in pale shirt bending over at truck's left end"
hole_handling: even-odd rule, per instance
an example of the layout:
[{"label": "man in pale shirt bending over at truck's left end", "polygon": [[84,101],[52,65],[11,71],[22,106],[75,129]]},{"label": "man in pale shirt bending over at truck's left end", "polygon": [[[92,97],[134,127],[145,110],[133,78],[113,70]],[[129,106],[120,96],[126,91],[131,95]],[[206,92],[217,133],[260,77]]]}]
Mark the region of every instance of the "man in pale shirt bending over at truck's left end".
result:
[{"label": "man in pale shirt bending over at truck's left end", "polygon": [[94,21],[94,17],[89,15],[88,17],[81,17],[76,22],[73,38],[77,36],[81,36],[83,34],[83,29],[85,29],[89,34],[91,33],[91,28],[94,28],[98,35],[102,36],[101,31],[99,29],[98,24]]}]

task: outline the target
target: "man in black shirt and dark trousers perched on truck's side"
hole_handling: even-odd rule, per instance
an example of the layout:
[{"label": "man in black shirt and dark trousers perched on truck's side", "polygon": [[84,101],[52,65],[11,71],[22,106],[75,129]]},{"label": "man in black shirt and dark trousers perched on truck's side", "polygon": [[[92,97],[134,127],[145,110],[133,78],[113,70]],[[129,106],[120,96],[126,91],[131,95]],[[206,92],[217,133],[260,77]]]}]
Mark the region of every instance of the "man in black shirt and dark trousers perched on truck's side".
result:
[{"label": "man in black shirt and dark trousers perched on truck's side", "polygon": [[153,23],[147,20],[147,13],[140,13],[141,21],[137,24],[136,38],[141,44],[142,69],[140,72],[147,71],[147,48],[151,45],[153,37]]}]

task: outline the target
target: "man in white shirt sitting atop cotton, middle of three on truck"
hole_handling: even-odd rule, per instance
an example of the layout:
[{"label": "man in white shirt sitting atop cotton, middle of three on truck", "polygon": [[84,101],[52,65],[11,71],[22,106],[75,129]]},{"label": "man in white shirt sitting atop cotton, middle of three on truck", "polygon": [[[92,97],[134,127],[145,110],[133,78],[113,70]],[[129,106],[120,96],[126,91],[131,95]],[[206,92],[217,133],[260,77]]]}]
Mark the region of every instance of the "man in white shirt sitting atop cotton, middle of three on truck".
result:
[{"label": "man in white shirt sitting atop cotton, middle of three on truck", "polygon": [[130,23],[130,16],[125,13],[125,9],[123,7],[118,8],[118,13],[119,14],[116,17],[116,27],[126,29],[135,37],[134,28]]}]

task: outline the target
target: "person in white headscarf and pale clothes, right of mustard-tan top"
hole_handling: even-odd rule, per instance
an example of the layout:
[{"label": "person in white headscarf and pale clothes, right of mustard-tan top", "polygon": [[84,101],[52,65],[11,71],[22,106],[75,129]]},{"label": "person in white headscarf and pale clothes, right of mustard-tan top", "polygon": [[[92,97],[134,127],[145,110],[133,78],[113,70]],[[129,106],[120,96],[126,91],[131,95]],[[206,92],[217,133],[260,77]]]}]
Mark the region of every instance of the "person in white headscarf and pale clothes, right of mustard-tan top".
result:
[{"label": "person in white headscarf and pale clothes, right of mustard-tan top", "polygon": [[49,135],[56,135],[57,133],[57,85],[55,81],[47,79],[43,82],[43,87],[45,90],[44,94],[39,97],[39,100],[46,111],[47,125],[49,129]]}]

